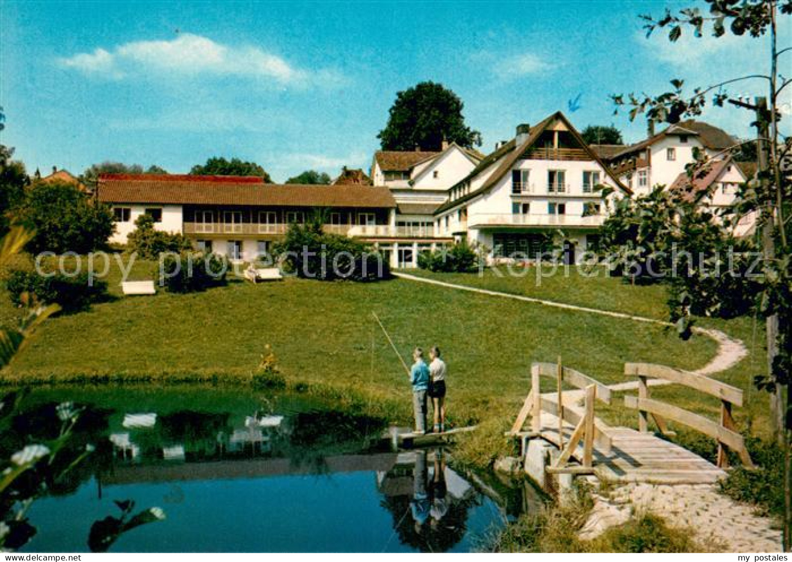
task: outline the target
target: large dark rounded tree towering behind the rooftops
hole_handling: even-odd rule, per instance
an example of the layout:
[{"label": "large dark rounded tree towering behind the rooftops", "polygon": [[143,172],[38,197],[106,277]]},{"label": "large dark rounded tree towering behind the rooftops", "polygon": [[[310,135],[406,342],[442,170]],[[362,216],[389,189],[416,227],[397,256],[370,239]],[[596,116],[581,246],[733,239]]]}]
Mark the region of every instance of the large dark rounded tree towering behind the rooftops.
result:
[{"label": "large dark rounded tree towering behind the rooftops", "polygon": [[443,142],[472,148],[482,145],[482,134],[467,127],[464,104],[450,89],[435,82],[396,94],[388,123],[377,138],[383,150],[440,150]]}]

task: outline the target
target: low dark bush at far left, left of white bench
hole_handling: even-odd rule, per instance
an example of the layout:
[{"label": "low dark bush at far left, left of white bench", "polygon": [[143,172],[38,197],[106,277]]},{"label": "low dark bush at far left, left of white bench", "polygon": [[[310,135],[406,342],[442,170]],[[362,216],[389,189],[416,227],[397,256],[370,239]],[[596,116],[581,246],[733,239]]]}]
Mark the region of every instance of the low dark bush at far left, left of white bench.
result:
[{"label": "low dark bush at far left, left of white bench", "polygon": [[93,302],[108,298],[107,283],[89,278],[87,273],[44,276],[17,270],[6,281],[6,290],[14,305],[21,306],[22,294],[28,293],[39,302],[59,305],[65,313],[87,310]]}]

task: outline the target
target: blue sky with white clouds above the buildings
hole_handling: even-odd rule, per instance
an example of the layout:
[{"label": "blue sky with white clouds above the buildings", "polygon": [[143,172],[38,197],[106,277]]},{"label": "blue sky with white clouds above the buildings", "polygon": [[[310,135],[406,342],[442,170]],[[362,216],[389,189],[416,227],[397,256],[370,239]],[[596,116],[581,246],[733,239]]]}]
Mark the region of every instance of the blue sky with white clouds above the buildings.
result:
[{"label": "blue sky with white clouds above the buildings", "polygon": [[[101,161],[187,173],[223,156],[276,181],[305,169],[335,177],[371,166],[396,93],[425,80],[462,98],[485,153],[559,109],[578,129],[613,124],[635,142],[645,120],[614,116],[611,93],[767,71],[764,39],[645,37],[639,14],[695,3],[0,0],[0,142],[29,173]],[[792,46],[790,30],[780,46]],[[765,90],[755,80],[729,93]],[[703,119],[753,134],[744,110]]]}]

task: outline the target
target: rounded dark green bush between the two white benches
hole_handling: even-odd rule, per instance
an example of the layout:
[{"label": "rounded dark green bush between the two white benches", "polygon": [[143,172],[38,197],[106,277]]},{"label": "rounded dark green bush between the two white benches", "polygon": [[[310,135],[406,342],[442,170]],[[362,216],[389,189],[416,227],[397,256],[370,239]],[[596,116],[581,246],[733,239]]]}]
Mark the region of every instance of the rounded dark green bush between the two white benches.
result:
[{"label": "rounded dark green bush between the two white benches", "polygon": [[227,261],[213,253],[169,254],[162,264],[160,286],[171,293],[192,293],[227,283]]}]

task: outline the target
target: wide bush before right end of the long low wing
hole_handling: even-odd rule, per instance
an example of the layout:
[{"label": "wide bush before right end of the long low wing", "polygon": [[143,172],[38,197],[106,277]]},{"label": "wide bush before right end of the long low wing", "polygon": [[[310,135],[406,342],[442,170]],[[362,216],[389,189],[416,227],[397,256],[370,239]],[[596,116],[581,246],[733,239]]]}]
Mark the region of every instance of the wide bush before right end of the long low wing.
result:
[{"label": "wide bush before right end of the long low wing", "polygon": [[370,282],[390,278],[382,254],[368,252],[350,237],[325,234],[321,220],[289,226],[275,253],[287,271],[304,279]]}]

